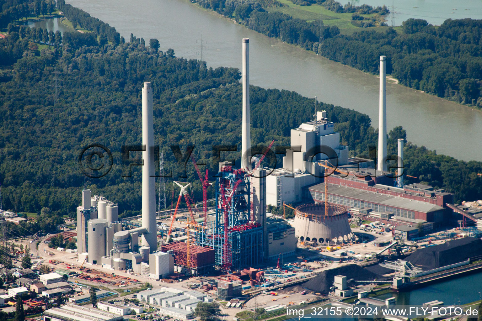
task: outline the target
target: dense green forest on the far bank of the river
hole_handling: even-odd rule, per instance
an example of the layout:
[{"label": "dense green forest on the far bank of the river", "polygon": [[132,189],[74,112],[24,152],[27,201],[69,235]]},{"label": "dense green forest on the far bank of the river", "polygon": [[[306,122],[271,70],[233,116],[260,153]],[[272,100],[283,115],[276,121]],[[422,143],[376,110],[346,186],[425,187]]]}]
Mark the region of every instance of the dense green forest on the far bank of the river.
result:
[{"label": "dense green forest on the far bank of the river", "polygon": [[[353,12],[353,23],[357,26],[370,26],[362,21],[364,18],[360,14],[388,13],[386,7],[341,6],[333,0],[293,2],[319,3],[339,13]],[[341,35],[336,26],[321,27],[317,21],[268,12],[264,2],[199,0],[198,3],[268,37],[315,51],[362,71],[378,73],[379,64],[374,57],[386,55],[387,73],[403,85],[457,103],[482,107],[482,20],[448,19],[442,26],[435,27],[425,20],[411,18],[403,22],[401,33],[387,27],[384,31],[361,28],[351,35]],[[319,42],[321,33],[322,43]]]}]

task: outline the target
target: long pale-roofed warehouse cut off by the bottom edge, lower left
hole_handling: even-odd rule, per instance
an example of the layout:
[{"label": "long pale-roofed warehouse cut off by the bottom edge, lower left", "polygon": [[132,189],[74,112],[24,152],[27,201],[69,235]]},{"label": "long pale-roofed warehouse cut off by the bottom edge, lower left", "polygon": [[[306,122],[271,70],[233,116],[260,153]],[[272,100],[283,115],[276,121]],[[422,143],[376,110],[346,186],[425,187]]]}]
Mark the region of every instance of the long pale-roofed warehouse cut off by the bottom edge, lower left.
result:
[{"label": "long pale-roofed warehouse cut off by the bottom edge, lower left", "polygon": [[124,317],[118,314],[75,304],[51,308],[42,313],[43,321],[122,321],[123,319]]}]

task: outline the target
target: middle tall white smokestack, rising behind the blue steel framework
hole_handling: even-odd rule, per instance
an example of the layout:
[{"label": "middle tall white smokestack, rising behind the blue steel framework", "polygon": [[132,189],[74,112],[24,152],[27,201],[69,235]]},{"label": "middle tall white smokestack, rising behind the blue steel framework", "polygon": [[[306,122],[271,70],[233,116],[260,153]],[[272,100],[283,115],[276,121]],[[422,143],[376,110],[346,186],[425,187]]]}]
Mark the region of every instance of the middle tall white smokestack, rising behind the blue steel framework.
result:
[{"label": "middle tall white smokestack, rising behind the blue steel framework", "polygon": [[248,151],[251,149],[251,119],[249,116],[249,39],[242,39],[242,134],[241,168],[251,169]]}]

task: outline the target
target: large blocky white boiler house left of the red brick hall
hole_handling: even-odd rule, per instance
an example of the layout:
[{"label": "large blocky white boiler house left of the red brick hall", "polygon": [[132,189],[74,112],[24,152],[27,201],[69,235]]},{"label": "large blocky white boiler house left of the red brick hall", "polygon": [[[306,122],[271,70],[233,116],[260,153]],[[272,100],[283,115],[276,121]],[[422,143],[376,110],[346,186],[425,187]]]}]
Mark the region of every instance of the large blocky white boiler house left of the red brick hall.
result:
[{"label": "large blocky white boiler house left of the red brick hall", "polygon": [[[283,167],[272,170],[266,178],[268,205],[281,207],[283,202],[301,202],[302,187],[321,180],[323,167],[313,163],[312,156],[315,160],[336,156],[338,165],[348,164],[348,146],[340,144],[340,133],[336,133],[334,127],[335,124],[326,118],[326,111],[319,111],[316,120],[291,129],[291,150],[283,157]],[[325,151],[324,146],[333,152]]]}]

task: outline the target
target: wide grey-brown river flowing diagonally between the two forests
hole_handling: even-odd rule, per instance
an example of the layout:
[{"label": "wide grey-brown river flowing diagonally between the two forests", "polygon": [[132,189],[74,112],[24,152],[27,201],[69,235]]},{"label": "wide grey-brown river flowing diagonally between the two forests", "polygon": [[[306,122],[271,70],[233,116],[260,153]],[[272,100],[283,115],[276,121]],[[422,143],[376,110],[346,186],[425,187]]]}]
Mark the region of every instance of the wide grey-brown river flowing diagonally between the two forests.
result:
[{"label": "wide grey-brown river flowing diagonally between the two forests", "polygon": [[[68,2],[116,27],[127,40],[131,32],[146,42],[157,38],[161,50],[173,48],[176,56],[187,59],[200,59],[202,52],[202,59],[213,67],[241,69],[241,39],[250,38],[251,84],[318,96],[319,101],[368,114],[372,124],[378,124],[378,79],[374,75],[268,38],[197,4],[186,0]],[[409,141],[457,159],[482,161],[479,111],[388,84],[387,117],[388,130],[402,125]]]}]

